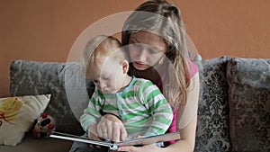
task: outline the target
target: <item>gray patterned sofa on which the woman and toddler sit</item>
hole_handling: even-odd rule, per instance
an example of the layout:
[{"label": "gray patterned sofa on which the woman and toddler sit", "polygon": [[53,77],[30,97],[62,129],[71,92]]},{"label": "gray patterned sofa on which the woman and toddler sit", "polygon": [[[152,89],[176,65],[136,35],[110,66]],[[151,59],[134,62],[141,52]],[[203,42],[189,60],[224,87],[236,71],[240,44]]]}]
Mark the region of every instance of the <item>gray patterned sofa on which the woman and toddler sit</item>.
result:
[{"label": "gray patterned sofa on which the woman and toddler sit", "polygon": [[[196,152],[270,151],[270,59],[210,58],[194,61],[200,71]],[[51,94],[45,112],[56,130],[80,136],[77,121],[94,85],[85,81],[78,63],[14,60],[12,96]],[[72,141],[34,139],[26,132],[16,146],[1,152],[67,152]]]}]

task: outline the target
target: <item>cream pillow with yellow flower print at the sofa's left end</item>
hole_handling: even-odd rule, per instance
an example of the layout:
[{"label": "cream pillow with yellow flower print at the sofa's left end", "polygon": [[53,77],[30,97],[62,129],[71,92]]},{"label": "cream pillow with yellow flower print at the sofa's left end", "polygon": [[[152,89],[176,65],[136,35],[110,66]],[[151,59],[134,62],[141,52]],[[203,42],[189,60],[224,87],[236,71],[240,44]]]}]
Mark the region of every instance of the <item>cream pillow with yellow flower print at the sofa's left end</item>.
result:
[{"label": "cream pillow with yellow flower print at the sofa's left end", "polygon": [[44,112],[50,94],[0,98],[0,145],[16,146]]}]

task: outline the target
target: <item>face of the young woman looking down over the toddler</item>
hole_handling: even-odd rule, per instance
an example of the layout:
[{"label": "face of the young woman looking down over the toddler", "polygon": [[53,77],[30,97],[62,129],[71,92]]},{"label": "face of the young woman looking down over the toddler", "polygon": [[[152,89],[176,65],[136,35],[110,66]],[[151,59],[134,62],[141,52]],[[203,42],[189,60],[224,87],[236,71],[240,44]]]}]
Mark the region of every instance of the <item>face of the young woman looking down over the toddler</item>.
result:
[{"label": "face of the young woman looking down over the toddler", "polygon": [[146,70],[157,65],[165,56],[166,43],[157,34],[148,31],[139,31],[131,34],[129,53],[133,67]]}]

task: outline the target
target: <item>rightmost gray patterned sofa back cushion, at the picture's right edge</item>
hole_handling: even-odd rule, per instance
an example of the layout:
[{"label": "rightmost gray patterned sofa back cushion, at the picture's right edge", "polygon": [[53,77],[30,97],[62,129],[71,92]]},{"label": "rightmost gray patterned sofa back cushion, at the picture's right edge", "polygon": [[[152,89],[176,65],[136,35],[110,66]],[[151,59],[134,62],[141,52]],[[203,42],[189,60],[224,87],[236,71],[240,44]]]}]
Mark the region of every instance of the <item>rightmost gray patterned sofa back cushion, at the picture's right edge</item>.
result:
[{"label": "rightmost gray patterned sofa back cushion, at the picture's right edge", "polygon": [[232,58],[227,70],[232,151],[269,151],[270,59]]}]

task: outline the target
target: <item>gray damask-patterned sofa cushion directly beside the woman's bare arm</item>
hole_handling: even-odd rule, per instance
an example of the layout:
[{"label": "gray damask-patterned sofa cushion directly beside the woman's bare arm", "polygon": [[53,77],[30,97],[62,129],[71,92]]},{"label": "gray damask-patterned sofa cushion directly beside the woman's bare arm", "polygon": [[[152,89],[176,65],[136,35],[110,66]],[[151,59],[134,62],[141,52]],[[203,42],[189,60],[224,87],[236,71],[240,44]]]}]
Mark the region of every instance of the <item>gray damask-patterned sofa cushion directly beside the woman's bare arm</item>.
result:
[{"label": "gray damask-patterned sofa cushion directly beside the woman's bare arm", "polygon": [[230,151],[229,103],[226,67],[229,57],[197,63],[200,69],[201,97],[195,151]]}]

